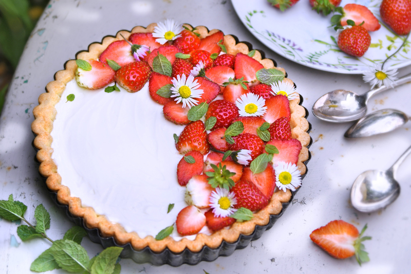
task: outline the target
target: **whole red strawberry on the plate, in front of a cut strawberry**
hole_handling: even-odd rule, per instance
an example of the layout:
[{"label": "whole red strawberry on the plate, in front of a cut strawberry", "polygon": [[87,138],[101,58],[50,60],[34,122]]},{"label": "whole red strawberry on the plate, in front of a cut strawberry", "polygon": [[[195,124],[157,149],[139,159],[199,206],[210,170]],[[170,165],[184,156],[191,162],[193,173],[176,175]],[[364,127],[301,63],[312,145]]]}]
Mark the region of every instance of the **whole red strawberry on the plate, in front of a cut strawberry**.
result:
[{"label": "whole red strawberry on the plate, in front of a cut strawberry", "polygon": [[362,57],[371,44],[371,36],[361,25],[356,26],[351,20],[347,23],[352,27],[344,29],[338,35],[338,46],[351,56]]}]

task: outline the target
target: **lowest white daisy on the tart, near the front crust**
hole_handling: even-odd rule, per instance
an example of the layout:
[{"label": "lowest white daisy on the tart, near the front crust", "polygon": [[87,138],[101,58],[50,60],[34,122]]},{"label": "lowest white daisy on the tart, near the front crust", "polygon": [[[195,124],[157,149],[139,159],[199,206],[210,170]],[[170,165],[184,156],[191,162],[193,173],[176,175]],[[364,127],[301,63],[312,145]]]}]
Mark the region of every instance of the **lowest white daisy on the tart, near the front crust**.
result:
[{"label": "lowest white daisy on the tart, near the front crust", "polygon": [[237,204],[237,198],[234,192],[229,192],[225,188],[216,188],[211,192],[210,207],[213,209],[214,216],[227,217],[236,212],[234,206]]}]

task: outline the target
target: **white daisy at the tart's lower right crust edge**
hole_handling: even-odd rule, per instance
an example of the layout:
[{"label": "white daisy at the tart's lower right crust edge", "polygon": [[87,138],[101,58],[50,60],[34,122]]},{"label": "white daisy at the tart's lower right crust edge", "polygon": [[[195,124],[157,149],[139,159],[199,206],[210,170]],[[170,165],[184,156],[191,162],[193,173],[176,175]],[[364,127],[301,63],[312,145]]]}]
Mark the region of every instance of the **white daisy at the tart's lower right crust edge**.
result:
[{"label": "white daisy at the tart's lower right crust edge", "polygon": [[301,186],[301,175],[293,163],[279,162],[278,166],[274,168],[275,171],[275,185],[279,190],[295,191],[296,187]]}]

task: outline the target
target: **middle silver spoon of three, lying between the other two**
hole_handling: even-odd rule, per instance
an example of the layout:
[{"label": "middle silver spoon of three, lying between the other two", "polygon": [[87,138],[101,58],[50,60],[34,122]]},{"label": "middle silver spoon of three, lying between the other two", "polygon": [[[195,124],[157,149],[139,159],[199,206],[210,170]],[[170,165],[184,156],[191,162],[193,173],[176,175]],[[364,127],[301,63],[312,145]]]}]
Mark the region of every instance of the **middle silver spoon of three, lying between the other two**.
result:
[{"label": "middle silver spoon of three, lying between the other two", "polygon": [[361,138],[398,129],[409,121],[405,113],[397,109],[381,109],[368,114],[354,123],[344,134],[346,138]]}]

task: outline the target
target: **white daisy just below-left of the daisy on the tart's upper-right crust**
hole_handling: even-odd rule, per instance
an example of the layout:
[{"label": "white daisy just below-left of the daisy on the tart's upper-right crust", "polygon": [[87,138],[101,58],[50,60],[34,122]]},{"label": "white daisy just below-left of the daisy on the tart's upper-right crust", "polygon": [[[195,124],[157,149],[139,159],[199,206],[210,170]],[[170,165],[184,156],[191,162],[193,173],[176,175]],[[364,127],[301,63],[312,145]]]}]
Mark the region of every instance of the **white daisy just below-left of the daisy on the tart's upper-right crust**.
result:
[{"label": "white daisy just below-left of the daisy on the tart's upper-right crust", "polygon": [[262,116],[267,112],[266,100],[253,93],[247,93],[241,95],[240,98],[235,101],[235,105],[238,107],[238,114],[240,116]]}]

